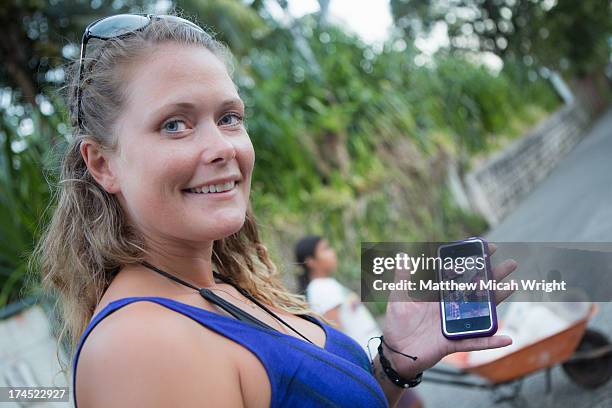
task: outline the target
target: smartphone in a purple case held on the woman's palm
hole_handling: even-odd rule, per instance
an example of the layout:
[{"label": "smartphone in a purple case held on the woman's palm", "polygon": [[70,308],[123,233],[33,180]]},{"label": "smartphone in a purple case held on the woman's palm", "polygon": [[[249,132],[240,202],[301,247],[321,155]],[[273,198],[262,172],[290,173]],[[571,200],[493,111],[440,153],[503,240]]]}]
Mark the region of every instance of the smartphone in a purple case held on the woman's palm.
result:
[{"label": "smartphone in a purple case held on the woman's palm", "polygon": [[491,279],[487,242],[472,237],[441,245],[438,258],[444,337],[456,340],[494,335],[497,331],[494,292],[485,284]]}]

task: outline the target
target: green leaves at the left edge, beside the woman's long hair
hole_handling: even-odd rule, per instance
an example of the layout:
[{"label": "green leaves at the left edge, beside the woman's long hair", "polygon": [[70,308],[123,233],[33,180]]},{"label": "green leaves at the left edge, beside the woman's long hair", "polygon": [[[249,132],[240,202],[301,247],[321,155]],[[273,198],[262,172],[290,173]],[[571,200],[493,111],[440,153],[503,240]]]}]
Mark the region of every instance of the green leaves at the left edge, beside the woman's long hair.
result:
[{"label": "green leaves at the left edge, beside the woman's long hair", "polygon": [[[51,193],[47,174],[49,141],[58,116],[33,111],[24,117],[3,114],[0,130],[0,306],[16,300],[26,289],[26,263]],[[29,133],[27,128],[35,129]],[[26,134],[27,133],[27,134]],[[52,177],[52,175],[51,175]]]}]

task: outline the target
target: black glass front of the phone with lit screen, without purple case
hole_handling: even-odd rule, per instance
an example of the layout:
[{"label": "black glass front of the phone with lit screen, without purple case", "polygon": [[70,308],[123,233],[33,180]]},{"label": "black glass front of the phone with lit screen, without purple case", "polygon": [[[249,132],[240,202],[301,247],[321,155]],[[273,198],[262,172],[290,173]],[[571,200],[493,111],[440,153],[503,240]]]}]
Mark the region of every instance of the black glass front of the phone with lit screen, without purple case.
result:
[{"label": "black glass front of the phone with lit screen, without purple case", "polygon": [[439,255],[443,260],[440,280],[467,284],[466,286],[470,287],[466,290],[442,290],[446,331],[463,333],[490,329],[490,294],[481,285],[481,281],[486,282],[488,278],[482,241],[445,245],[440,247]]}]

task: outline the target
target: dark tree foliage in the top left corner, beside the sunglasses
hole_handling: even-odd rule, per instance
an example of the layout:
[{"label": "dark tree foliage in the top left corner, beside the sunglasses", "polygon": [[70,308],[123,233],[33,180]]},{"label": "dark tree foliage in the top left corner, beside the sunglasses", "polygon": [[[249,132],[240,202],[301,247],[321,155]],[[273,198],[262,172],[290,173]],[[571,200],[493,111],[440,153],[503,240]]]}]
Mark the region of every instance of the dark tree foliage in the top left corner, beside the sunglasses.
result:
[{"label": "dark tree foliage in the top left corner, beside the sunglasses", "polygon": [[[141,12],[154,0],[20,0],[0,2],[0,84],[19,90],[16,102],[36,106],[45,86],[57,85],[64,56],[78,58],[85,26],[103,16]],[[97,4],[96,4],[97,3]],[[96,4],[94,6],[94,4]],[[65,47],[68,44],[76,46]]]}]

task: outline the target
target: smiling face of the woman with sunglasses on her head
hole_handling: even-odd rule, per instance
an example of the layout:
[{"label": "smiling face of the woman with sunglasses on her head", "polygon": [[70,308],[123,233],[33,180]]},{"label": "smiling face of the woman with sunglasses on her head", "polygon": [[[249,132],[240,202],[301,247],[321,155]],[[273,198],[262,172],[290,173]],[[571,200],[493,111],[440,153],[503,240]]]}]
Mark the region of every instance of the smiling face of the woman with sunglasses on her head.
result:
[{"label": "smiling face of the woman with sunglasses on her head", "polygon": [[166,43],[127,77],[110,166],[130,221],[162,241],[238,231],[255,153],[223,62],[203,47]]}]

